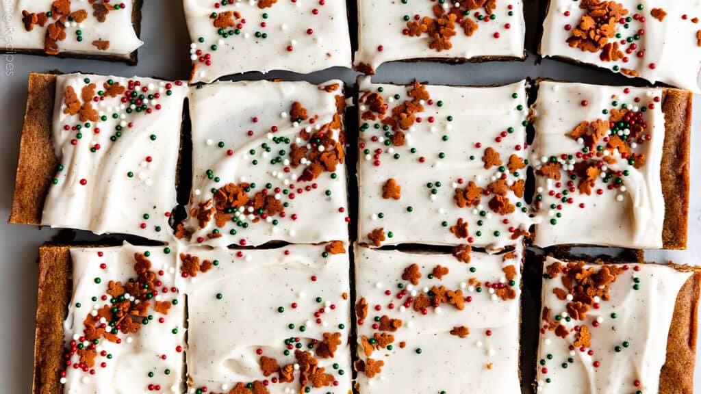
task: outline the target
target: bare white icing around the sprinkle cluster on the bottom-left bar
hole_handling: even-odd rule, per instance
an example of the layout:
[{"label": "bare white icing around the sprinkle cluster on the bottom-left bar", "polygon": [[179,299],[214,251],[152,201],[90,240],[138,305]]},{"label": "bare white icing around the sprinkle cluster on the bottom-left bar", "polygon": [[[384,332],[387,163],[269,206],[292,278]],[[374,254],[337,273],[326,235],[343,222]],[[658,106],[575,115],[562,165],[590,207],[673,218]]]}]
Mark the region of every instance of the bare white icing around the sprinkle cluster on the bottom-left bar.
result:
[{"label": "bare white icing around the sprinkle cluster on the bottom-left bar", "polygon": [[[168,271],[168,267],[172,267],[175,260],[173,254],[164,254],[160,247],[137,247],[124,243],[120,247],[72,248],[73,294],[64,322],[64,337],[67,342],[76,340],[81,343],[79,338],[83,337],[85,327],[83,320],[88,314],[96,315],[97,309],[109,304],[109,282],[126,283],[129,279],[137,278],[134,254],[147,251],[151,252],[148,257],[152,264],[151,271],[156,272],[157,279],[161,280],[159,296],[163,301],[177,299],[178,303],[171,304],[165,315],[155,312],[151,305],[149,314],[154,316],[154,320],[142,325],[135,333],[118,332],[121,344],[101,339],[97,345],[95,367],[91,368],[95,369],[95,374],[90,374],[90,369],[83,371],[67,367],[64,393],[149,393],[156,386],[160,386],[156,390],[158,393],[182,392],[184,354],[182,348],[180,352],[177,351],[177,346],[184,346],[184,297],[170,291],[175,285],[175,275]],[[100,264],[105,264],[105,268],[102,269]],[[164,270],[163,275],[158,274],[161,269]],[[95,278],[100,278],[100,283]],[[167,288],[168,292],[163,292],[163,288]],[[108,297],[104,301],[101,298],[103,295]],[[93,301],[93,297],[97,297],[97,301]],[[83,344],[87,346],[88,342]],[[102,351],[105,355],[100,355]],[[79,355],[74,354],[71,361],[77,365]],[[151,372],[153,376],[149,376]],[[153,390],[149,390],[149,385]],[[171,390],[172,387],[176,390]]]}]

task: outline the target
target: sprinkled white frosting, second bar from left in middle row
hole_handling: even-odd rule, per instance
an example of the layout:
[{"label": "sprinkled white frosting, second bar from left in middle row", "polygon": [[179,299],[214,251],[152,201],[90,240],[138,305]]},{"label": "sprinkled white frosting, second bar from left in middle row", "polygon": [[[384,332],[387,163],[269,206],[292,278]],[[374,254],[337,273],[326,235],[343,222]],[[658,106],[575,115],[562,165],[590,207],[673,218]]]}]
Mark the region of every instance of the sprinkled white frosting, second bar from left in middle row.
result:
[{"label": "sprinkled white frosting, second bar from left in middle row", "polygon": [[192,242],[348,239],[341,81],[215,83],[190,104]]}]

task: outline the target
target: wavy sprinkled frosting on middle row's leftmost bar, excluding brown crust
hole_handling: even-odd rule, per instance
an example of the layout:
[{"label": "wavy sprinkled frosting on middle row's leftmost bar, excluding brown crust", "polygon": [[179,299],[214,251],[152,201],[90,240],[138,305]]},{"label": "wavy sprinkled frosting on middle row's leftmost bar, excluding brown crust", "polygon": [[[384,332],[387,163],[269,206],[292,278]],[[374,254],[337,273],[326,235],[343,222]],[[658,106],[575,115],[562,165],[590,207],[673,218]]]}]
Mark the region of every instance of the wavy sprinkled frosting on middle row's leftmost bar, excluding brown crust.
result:
[{"label": "wavy sprinkled frosting on middle row's leftmost bar, excluding brown crust", "polygon": [[179,81],[57,76],[60,165],[41,224],[170,240],[186,92]]}]

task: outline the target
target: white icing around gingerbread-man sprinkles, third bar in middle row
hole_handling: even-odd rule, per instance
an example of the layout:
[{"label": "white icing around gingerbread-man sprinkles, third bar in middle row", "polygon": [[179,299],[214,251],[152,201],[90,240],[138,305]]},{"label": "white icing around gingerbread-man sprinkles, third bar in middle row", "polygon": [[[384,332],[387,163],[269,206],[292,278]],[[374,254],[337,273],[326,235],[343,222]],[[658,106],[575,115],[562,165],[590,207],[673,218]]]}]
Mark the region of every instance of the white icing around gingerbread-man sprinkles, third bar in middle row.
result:
[{"label": "white icing around gingerbread-man sprinkles, third bar in middle row", "polygon": [[[388,117],[397,104],[412,100],[408,96],[411,90],[413,87],[372,85],[367,78],[360,81],[360,96],[378,93],[388,103]],[[370,108],[360,102],[360,242],[372,242],[368,234],[382,228],[386,235],[383,245],[468,242],[499,249],[516,243],[509,229],[528,229],[530,219],[522,210],[526,209],[524,201],[513,191],[507,191],[506,197],[515,210],[507,215],[489,208],[493,196],[482,195],[479,204],[463,208],[458,207],[454,196],[455,190],[465,189],[468,182],[486,189],[504,175],[508,185],[525,179],[525,168],[516,171],[518,176],[506,168],[511,155],[526,158],[522,123],[528,111],[525,82],[497,88],[428,85],[426,90],[432,102],[425,102],[424,110],[415,114],[416,123],[404,130],[406,142],[402,146],[386,144],[386,133],[391,135],[393,130],[384,130],[379,120],[363,119]],[[395,95],[400,98],[395,99]],[[512,133],[508,133],[510,128]],[[499,165],[484,168],[482,156],[488,147],[498,152],[504,172],[500,172]],[[390,178],[401,188],[398,200],[383,198],[383,185]],[[468,222],[470,238],[457,238],[451,233],[450,227],[458,219]]]}]

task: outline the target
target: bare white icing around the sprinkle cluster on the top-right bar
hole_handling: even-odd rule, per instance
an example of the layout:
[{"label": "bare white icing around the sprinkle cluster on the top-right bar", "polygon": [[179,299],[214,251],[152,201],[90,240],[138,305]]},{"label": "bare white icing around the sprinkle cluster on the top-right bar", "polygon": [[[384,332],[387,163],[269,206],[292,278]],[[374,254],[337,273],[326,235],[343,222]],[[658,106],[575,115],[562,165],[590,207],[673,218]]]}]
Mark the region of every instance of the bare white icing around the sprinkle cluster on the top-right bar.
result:
[{"label": "bare white icing around the sprinkle cluster on the top-right bar", "polygon": [[[615,2],[622,4],[628,10],[625,18],[631,18],[631,20],[627,21],[627,28],[621,23],[616,24],[615,32],[621,36],[608,41],[620,44],[625,60],[604,62],[599,57],[599,51],[589,52],[569,46],[566,41],[572,36],[573,29],[578,27],[585,14],[585,10],[579,8],[580,3],[571,0],[550,1],[550,10],[543,26],[540,53],[544,56],[568,57],[606,69],[613,69],[613,67],[633,69],[639,76],[653,83],[661,81],[700,92],[698,76],[701,71],[701,48],[698,46],[696,36],[700,27],[692,20],[701,18],[701,1],[615,0]],[[638,5],[643,6],[643,10],[639,10]],[[651,15],[653,8],[662,8],[667,16],[660,22]],[[634,15],[638,15],[638,18],[634,18]],[[645,22],[641,22],[639,17],[644,17]],[[639,34],[641,29],[644,31],[642,35]],[[639,39],[622,43],[628,37],[635,37],[636,34]],[[627,49],[631,52],[627,52]],[[654,65],[651,66],[651,64]],[[622,75],[627,74],[622,73]]]}]

